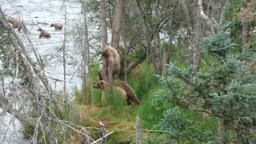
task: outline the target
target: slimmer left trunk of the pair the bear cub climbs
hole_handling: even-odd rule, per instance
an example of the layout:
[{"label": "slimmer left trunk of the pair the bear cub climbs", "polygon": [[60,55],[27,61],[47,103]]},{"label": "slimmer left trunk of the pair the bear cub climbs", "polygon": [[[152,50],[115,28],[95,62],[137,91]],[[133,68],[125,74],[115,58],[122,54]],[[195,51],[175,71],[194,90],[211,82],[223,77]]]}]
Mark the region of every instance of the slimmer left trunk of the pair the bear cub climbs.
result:
[{"label": "slimmer left trunk of the pair the bear cub climbs", "polygon": [[[101,0],[100,2],[101,11],[101,23],[102,23],[102,49],[107,44],[107,30],[106,30],[106,0]],[[102,57],[102,78],[104,81],[108,82],[107,73],[107,59]]]}]

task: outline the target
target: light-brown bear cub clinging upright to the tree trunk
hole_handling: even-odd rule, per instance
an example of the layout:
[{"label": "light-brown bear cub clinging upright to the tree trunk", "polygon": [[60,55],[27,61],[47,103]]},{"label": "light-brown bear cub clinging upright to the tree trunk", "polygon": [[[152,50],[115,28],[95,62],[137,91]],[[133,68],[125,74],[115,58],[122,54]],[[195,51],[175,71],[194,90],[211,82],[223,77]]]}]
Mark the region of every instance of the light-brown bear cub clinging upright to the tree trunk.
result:
[{"label": "light-brown bear cub clinging upright to the tree trunk", "polygon": [[108,74],[112,74],[114,78],[114,74],[120,73],[120,55],[118,50],[115,50],[114,47],[106,45],[103,49],[102,57],[107,59],[107,71]]}]

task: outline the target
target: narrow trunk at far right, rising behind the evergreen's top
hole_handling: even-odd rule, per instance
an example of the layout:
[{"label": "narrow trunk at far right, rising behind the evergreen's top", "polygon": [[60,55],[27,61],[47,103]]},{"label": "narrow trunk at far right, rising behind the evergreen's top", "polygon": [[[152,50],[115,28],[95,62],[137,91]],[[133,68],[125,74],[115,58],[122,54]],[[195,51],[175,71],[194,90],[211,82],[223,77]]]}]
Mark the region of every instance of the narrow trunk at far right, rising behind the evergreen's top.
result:
[{"label": "narrow trunk at far right, rising behind the evergreen's top", "polygon": [[[250,0],[242,0],[243,11],[246,11],[248,2],[250,2]],[[246,49],[249,46],[250,23],[248,21],[248,18],[242,19],[242,53],[245,53]]]}]

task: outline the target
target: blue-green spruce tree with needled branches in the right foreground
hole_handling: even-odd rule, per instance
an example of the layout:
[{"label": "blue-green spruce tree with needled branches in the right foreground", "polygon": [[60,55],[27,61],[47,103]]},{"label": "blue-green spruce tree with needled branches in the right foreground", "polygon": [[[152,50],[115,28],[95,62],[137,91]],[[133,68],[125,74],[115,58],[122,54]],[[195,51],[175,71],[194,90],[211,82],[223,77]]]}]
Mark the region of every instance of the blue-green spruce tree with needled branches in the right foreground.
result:
[{"label": "blue-green spruce tree with needled branches in the right foreground", "polygon": [[[156,127],[170,131],[174,142],[256,142],[256,77],[254,67],[245,62],[254,55],[230,54],[236,46],[230,39],[230,24],[218,26],[218,34],[202,39],[202,51],[215,59],[206,70],[194,74],[195,66],[181,69],[170,64],[169,76],[158,76],[166,93],[155,101],[175,106],[166,108]],[[216,118],[215,131],[218,129],[219,134],[211,139],[208,136],[214,134],[213,130],[191,131],[194,122],[183,115],[186,110]],[[196,126],[194,129],[198,129]]]}]

